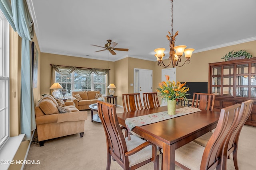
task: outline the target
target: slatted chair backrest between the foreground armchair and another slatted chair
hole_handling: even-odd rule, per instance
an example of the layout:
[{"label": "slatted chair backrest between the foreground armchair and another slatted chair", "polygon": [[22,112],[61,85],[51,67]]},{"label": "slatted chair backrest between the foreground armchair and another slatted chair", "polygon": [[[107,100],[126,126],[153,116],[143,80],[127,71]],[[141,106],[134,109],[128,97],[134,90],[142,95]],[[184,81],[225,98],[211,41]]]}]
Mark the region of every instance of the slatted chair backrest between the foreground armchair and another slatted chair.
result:
[{"label": "slatted chair backrest between the foreground armchair and another slatted chair", "polygon": [[122,94],[124,112],[142,110],[139,93]]}]

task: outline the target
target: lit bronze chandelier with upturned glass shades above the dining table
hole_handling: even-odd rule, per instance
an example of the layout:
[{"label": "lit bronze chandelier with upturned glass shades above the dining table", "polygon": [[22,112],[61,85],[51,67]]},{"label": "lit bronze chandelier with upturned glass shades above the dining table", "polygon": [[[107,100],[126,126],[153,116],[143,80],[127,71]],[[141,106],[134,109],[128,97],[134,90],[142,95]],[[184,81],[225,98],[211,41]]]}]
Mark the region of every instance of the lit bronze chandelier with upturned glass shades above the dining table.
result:
[{"label": "lit bronze chandelier with upturned glass shades above the dining table", "polygon": [[[185,63],[190,63],[189,59],[192,55],[192,52],[195,50],[195,49],[185,49],[187,47],[186,45],[174,46],[176,36],[178,35],[179,31],[177,31],[174,35],[172,33],[173,32],[173,0],[171,1],[172,1],[172,31],[171,33],[168,31],[169,35],[166,35],[167,39],[170,41],[170,53],[169,53],[170,56],[168,58],[170,60],[170,63],[168,65],[165,65],[164,62],[162,61],[163,57],[165,56],[164,54],[165,48],[158,48],[154,50],[156,52],[155,56],[158,61],[157,63],[158,66],[162,65],[164,68],[170,66],[171,63],[172,63],[172,67],[183,66]],[[186,57],[186,61],[182,65],[179,65],[179,63],[181,62],[181,56],[183,55],[183,53]]]}]

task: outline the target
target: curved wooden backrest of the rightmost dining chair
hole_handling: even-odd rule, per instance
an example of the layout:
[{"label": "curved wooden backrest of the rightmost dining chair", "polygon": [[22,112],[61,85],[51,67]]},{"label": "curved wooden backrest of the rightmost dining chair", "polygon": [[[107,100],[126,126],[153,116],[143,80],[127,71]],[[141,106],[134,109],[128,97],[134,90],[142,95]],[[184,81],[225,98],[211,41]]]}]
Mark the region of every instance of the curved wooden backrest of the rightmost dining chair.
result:
[{"label": "curved wooden backrest of the rightmost dining chair", "polygon": [[[226,143],[226,145],[224,147],[223,167],[225,167],[225,168],[226,168],[228,155],[231,152],[233,152],[234,150],[237,151],[238,139],[240,136],[240,132],[242,130],[244,123],[246,122],[246,120],[248,119],[248,117],[250,116],[250,114],[252,112],[253,102],[254,102],[254,100],[247,100],[245,102],[242,102],[242,104],[241,104],[241,108],[240,108],[239,115],[238,115],[237,127],[234,130],[234,132],[230,134],[230,137],[228,137],[228,138],[230,138],[230,140],[229,140],[229,142]],[[238,165],[236,165],[236,166],[238,166]]]}]

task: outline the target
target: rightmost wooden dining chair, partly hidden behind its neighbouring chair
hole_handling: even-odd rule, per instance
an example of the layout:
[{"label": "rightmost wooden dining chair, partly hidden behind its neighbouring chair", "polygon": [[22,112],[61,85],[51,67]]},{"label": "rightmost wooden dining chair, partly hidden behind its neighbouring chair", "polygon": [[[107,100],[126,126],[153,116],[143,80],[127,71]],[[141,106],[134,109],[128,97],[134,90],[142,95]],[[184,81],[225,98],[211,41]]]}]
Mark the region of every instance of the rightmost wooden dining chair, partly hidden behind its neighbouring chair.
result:
[{"label": "rightmost wooden dining chair, partly hidden behind its neighbouring chair", "polygon": [[[230,158],[230,154],[233,152],[233,162],[236,170],[239,170],[238,167],[238,158],[237,158],[237,150],[238,150],[238,140],[240,136],[240,132],[242,130],[242,127],[248,117],[250,116],[250,113],[252,111],[254,100],[247,100],[245,102],[242,102],[241,108],[239,111],[239,117],[238,117],[238,126],[236,127],[235,131],[231,134],[230,141],[225,145],[224,148],[224,158],[223,158],[223,168],[226,167],[227,158]],[[199,145],[206,147],[206,144],[208,143],[210,137],[212,136],[212,132],[208,132],[205,135],[202,135],[201,137],[194,140],[194,142],[198,143]]]}]

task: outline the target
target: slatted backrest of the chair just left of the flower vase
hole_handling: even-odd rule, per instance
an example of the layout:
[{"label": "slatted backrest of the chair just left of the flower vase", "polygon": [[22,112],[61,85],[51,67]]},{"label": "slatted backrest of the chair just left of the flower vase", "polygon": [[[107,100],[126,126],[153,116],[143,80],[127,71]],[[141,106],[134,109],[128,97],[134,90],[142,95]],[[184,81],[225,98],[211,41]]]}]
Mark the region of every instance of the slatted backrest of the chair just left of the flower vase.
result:
[{"label": "slatted backrest of the chair just left of the flower vase", "polygon": [[156,92],[143,93],[143,102],[146,109],[160,107]]}]

